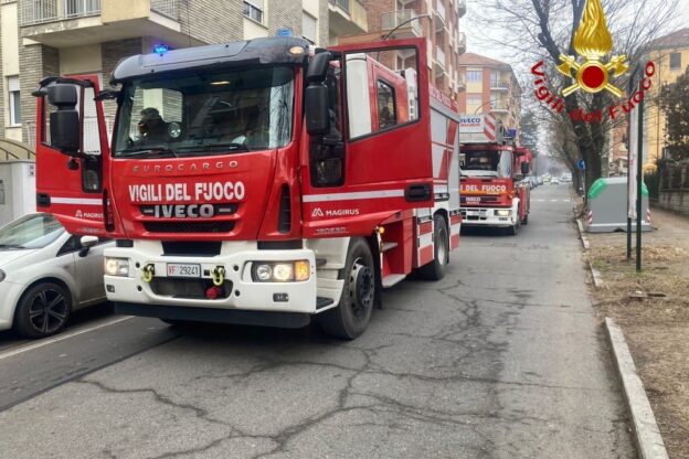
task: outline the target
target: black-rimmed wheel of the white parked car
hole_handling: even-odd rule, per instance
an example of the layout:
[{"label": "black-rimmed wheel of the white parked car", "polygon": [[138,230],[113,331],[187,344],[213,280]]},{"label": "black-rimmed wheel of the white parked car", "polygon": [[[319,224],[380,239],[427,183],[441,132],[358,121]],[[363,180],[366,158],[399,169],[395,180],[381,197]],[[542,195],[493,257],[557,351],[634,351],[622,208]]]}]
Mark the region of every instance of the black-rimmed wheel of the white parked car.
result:
[{"label": "black-rimmed wheel of the white parked car", "polygon": [[59,284],[41,282],[26,290],[14,312],[14,330],[25,338],[44,338],[64,329],[72,312],[72,297]]}]

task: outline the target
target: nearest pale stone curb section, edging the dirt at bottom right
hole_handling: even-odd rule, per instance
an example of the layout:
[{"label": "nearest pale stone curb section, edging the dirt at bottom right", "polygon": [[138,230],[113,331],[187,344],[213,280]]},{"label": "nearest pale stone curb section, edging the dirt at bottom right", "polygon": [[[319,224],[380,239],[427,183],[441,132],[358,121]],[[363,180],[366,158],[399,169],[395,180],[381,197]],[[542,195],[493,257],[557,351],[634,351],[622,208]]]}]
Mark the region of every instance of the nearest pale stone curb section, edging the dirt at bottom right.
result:
[{"label": "nearest pale stone curb section, edging the dirt at bottom right", "polygon": [[613,346],[623,393],[632,415],[638,457],[639,459],[668,459],[656,417],[644,391],[644,384],[636,372],[624,334],[611,318],[605,318],[605,330]]}]

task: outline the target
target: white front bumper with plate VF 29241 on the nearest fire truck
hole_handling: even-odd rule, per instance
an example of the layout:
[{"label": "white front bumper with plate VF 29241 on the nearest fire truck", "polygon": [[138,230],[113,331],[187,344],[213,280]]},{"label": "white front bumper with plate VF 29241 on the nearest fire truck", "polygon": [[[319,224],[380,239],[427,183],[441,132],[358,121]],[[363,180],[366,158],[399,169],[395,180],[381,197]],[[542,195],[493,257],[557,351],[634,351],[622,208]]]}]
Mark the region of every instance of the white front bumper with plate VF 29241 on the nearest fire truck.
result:
[{"label": "white front bumper with plate VF 29241 on the nearest fire truck", "polygon": [[106,249],[105,289],[119,312],[236,323],[223,319],[222,311],[312,314],[332,302],[317,298],[310,249],[259,250],[255,243],[225,243],[213,256],[176,256],[161,255],[160,247],[159,242],[135,242]]}]

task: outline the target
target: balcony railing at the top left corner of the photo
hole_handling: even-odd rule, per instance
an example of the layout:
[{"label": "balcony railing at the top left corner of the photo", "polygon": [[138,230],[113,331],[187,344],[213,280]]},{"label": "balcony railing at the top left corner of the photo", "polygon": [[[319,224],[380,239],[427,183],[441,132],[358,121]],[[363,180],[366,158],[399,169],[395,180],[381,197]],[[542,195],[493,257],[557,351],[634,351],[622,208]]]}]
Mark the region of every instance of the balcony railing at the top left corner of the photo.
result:
[{"label": "balcony railing at the top left corner of the photo", "polygon": [[100,0],[21,0],[20,4],[22,26],[100,14]]}]

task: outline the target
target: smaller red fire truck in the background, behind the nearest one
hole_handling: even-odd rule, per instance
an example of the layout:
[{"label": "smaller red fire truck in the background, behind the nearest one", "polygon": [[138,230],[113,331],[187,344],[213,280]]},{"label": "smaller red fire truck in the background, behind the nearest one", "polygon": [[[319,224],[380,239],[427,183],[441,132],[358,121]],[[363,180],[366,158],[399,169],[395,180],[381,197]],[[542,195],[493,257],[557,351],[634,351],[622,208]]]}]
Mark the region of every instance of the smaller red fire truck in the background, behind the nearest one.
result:
[{"label": "smaller red fire truck in the background, behind the nearest one", "polygon": [[460,119],[462,215],[467,226],[506,228],[516,235],[529,222],[530,186],[523,181],[531,152],[490,114]]}]

